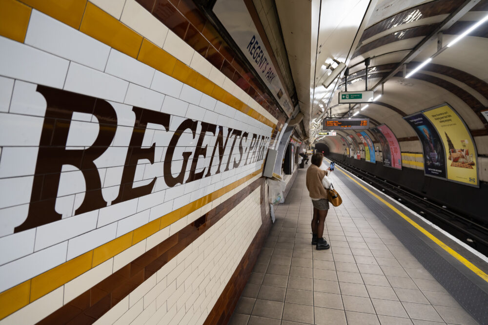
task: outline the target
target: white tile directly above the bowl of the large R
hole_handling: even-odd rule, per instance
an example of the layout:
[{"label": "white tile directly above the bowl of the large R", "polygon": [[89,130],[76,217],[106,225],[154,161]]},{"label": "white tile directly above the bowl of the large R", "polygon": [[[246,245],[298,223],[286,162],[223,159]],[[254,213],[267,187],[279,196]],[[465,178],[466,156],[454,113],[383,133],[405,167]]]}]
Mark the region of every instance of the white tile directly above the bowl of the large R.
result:
[{"label": "white tile directly above the bowl of the large R", "polygon": [[122,103],[128,86],[125,80],[71,62],[64,90]]}]

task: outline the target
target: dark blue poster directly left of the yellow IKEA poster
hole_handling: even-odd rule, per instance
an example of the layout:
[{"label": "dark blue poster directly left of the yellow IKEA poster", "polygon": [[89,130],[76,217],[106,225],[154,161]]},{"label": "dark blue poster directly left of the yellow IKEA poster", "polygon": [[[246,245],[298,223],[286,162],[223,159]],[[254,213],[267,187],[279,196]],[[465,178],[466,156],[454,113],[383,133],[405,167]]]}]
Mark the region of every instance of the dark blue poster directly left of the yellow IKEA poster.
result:
[{"label": "dark blue poster directly left of the yellow IKEA poster", "polygon": [[422,143],[426,175],[446,178],[444,146],[432,123],[422,113],[404,118],[415,130]]}]

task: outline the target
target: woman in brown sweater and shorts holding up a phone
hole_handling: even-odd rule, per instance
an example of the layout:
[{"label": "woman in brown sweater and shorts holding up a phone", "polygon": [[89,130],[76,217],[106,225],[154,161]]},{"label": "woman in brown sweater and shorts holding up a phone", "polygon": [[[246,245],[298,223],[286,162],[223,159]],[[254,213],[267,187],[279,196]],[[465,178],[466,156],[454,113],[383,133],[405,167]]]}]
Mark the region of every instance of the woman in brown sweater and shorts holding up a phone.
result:
[{"label": "woman in brown sweater and shorts holding up a phone", "polygon": [[306,170],[306,188],[313,205],[312,245],[316,245],[317,250],[330,248],[330,245],[323,238],[325,217],[329,210],[326,189],[330,188],[330,181],[327,177],[330,168],[327,168],[326,171],[319,168],[322,165],[323,158],[322,153],[312,154],[312,164]]}]

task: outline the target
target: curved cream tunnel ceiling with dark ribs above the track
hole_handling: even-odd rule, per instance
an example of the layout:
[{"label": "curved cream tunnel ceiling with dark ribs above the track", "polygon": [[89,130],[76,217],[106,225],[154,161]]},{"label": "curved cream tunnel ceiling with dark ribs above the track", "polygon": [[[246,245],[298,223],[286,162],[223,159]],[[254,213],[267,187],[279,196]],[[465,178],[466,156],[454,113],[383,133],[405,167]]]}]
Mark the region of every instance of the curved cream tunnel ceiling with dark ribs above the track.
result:
[{"label": "curved cream tunnel ceiling with dark ribs above the track", "polygon": [[[413,5],[406,8],[407,2]],[[488,122],[480,113],[488,106],[488,22],[434,57],[413,76],[405,78],[402,66],[406,64],[408,73],[436,53],[439,30],[442,31],[439,39],[445,46],[488,15],[488,0],[474,2],[473,6],[473,1],[460,0],[376,1],[375,14],[370,16],[367,28],[351,51],[347,90],[365,90],[364,61],[370,57],[368,90],[376,87],[376,94],[381,93],[384,83],[384,94],[365,110],[359,111],[359,105],[354,107],[353,112],[359,111],[356,117],[370,118],[372,126],[385,123],[400,141],[408,141],[417,138],[404,116],[448,103],[465,120],[473,136],[488,137]],[[391,6],[386,10],[388,3]],[[380,19],[377,11],[381,8],[389,15]],[[320,64],[317,61],[316,69]],[[328,110],[329,116],[347,116],[348,105],[337,104],[338,92],[345,90],[344,74],[336,85],[327,89],[320,85],[322,80],[316,81],[312,121],[322,115],[319,104]],[[335,90],[334,86],[337,86]],[[340,137],[337,138],[339,141],[327,138],[321,141],[326,141],[333,150],[335,145],[342,146]],[[488,154],[485,147],[478,148],[479,154]]]}]

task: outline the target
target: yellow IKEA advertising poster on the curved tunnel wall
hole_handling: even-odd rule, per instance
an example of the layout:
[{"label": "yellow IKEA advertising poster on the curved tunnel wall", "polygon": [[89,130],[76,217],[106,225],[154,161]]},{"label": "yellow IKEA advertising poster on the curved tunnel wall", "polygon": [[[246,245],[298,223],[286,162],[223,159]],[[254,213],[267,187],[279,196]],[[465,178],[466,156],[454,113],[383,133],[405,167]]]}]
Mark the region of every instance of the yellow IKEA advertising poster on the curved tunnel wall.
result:
[{"label": "yellow IKEA advertising poster on the curved tunnel wall", "polygon": [[444,144],[447,179],[478,186],[476,149],[463,120],[448,105],[423,113],[437,129]]}]

